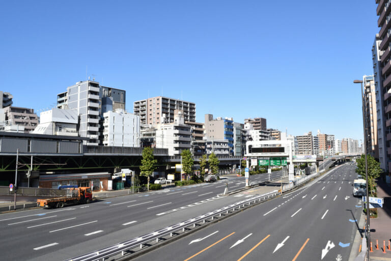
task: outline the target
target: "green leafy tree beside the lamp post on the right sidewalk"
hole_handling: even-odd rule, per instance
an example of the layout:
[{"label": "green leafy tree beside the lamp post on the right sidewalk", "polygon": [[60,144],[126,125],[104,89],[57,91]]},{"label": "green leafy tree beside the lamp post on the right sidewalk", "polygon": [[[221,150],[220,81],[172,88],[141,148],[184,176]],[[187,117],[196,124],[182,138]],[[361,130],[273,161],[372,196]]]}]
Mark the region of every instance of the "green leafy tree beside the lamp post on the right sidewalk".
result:
[{"label": "green leafy tree beside the lamp post on the right sidewalk", "polygon": [[[370,196],[374,196],[373,192],[375,189],[375,179],[380,176],[382,169],[380,168],[380,163],[373,158],[372,155],[367,155],[367,164],[368,164],[368,188]],[[356,172],[361,175],[363,179],[366,179],[365,176],[365,155],[361,155],[360,159],[357,159],[357,169]]]}]

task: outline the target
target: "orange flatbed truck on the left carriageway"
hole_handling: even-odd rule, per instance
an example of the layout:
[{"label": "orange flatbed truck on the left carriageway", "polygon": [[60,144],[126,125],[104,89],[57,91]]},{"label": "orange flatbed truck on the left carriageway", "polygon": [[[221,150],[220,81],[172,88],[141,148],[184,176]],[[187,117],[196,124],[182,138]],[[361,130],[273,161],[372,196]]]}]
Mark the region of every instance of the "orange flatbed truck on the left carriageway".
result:
[{"label": "orange flatbed truck on the left carriageway", "polygon": [[37,199],[42,207],[62,208],[65,204],[84,204],[92,201],[90,187],[77,187],[76,185],[59,186],[59,189],[66,189],[67,195],[63,197]]}]

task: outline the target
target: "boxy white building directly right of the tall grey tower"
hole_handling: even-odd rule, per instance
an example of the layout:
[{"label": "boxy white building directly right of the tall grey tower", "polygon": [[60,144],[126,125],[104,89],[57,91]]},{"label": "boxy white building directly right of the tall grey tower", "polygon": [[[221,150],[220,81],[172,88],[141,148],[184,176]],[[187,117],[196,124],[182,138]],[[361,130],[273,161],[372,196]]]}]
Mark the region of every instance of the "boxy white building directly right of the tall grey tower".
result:
[{"label": "boxy white building directly right of the tall grey tower", "polygon": [[140,116],[123,109],[103,113],[103,145],[139,147]]}]

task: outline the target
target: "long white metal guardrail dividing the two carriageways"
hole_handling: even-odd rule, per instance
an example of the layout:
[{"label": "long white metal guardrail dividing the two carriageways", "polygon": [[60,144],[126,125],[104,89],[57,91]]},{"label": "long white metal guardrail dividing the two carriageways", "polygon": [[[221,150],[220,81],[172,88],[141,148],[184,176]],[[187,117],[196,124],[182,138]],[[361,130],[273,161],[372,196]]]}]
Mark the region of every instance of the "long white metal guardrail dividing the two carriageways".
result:
[{"label": "long white metal guardrail dividing the two carriageways", "polygon": [[263,195],[254,196],[222,208],[218,210],[208,212],[204,215],[194,217],[180,223],[144,234],[143,236],[133,238],[129,241],[125,241],[107,248],[103,248],[91,253],[87,253],[81,256],[77,256],[71,259],[70,261],[92,261],[92,260],[104,260],[108,257],[114,257],[118,255],[118,258],[122,258],[125,254],[134,254],[139,250],[142,250],[146,247],[151,247],[159,243],[159,241],[167,241],[175,236],[179,236],[186,231],[189,231],[193,228],[199,228],[205,225],[207,222],[211,222],[215,219],[231,215],[232,213],[242,210],[243,207],[267,200],[271,197],[278,195],[278,191],[272,191]]}]

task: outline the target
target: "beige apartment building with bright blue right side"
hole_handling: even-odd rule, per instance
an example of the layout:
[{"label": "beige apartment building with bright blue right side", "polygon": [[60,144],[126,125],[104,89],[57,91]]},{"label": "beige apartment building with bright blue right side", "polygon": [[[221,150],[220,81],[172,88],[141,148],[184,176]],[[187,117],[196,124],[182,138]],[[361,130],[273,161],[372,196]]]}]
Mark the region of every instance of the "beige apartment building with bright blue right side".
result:
[{"label": "beige apartment building with bright blue right side", "polygon": [[213,119],[212,114],[205,114],[205,134],[208,138],[228,140],[230,154],[234,153],[234,120],[218,117]]}]

